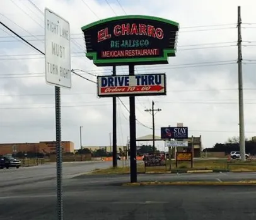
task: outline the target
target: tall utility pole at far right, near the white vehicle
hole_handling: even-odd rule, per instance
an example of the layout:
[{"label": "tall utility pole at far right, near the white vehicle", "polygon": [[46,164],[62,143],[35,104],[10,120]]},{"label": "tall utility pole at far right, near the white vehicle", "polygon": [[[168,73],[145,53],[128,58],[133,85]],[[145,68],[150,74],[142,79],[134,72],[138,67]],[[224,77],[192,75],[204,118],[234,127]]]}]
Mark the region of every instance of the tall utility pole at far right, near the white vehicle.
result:
[{"label": "tall utility pole at far right, near the white vehicle", "polygon": [[238,98],[239,98],[239,144],[241,161],[245,161],[245,121],[243,118],[243,69],[241,55],[241,8],[238,6]]}]

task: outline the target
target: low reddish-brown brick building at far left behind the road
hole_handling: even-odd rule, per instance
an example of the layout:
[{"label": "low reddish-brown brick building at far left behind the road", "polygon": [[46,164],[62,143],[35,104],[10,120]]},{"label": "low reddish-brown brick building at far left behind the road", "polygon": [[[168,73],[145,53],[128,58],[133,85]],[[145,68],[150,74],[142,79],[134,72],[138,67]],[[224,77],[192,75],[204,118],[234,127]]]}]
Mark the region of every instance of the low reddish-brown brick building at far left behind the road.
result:
[{"label": "low reddish-brown brick building at far left behind the road", "polygon": [[[2,143],[0,144],[0,155],[15,152],[33,153],[54,153],[55,141],[40,141],[39,143]],[[74,143],[72,141],[62,141],[63,153],[74,153]]]}]

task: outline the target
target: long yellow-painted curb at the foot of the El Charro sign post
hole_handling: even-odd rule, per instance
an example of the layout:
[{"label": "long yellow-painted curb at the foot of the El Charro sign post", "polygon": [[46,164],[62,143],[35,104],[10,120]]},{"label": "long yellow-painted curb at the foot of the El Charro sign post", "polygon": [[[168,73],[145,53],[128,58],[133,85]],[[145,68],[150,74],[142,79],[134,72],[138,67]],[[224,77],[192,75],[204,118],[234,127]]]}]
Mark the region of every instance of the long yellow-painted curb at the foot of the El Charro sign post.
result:
[{"label": "long yellow-painted curb at the foot of the El Charro sign post", "polygon": [[255,180],[239,181],[239,182],[135,182],[122,184],[123,186],[139,186],[139,185],[255,185]]}]

